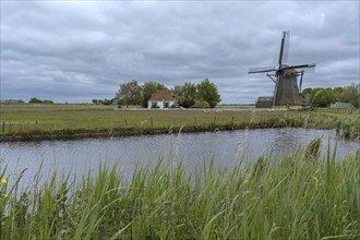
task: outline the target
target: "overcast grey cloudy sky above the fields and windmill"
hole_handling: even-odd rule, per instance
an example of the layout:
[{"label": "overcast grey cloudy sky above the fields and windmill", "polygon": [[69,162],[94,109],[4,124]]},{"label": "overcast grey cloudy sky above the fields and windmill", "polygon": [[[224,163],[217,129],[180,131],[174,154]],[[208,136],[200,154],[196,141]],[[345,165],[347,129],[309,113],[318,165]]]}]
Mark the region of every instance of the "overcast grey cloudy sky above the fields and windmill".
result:
[{"label": "overcast grey cloudy sky above the fields and windmill", "polygon": [[273,94],[288,62],[316,63],[303,87],[359,82],[359,1],[1,1],[1,99],[111,98],[120,83],[214,82],[223,104]]}]

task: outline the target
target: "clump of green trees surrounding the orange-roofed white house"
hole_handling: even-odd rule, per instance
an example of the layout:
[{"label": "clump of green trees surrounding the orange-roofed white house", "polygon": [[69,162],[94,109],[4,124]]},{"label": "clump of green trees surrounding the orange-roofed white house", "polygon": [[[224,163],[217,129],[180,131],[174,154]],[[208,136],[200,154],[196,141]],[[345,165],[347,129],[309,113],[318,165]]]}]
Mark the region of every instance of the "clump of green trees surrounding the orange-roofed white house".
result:
[{"label": "clump of green trees surrounding the orange-roofed white house", "polygon": [[[156,91],[169,89],[164,84],[149,81],[140,85],[136,80],[120,84],[119,91],[116,93],[118,105],[141,105],[147,108],[147,101]],[[202,107],[215,108],[221,100],[217,86],[208,79],[203,80],[200,84],[187,82],[183,85],[177,85],[169,89],[176,96],[178,105],[184,108]]]}]

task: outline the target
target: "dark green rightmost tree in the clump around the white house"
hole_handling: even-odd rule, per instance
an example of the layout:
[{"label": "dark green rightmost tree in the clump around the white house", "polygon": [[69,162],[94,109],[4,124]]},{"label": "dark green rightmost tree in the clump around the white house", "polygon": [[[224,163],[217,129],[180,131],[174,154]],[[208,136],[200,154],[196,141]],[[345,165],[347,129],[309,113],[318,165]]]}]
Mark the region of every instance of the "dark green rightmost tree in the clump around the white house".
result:
[{"label": "dark green rightmost tree in the clump around the white house", "polygon": [[197,99],[207,101],[211,108],[215,108],[221,100],[216,85],[209,82],[208,79],[203,80],[197,85]]}]

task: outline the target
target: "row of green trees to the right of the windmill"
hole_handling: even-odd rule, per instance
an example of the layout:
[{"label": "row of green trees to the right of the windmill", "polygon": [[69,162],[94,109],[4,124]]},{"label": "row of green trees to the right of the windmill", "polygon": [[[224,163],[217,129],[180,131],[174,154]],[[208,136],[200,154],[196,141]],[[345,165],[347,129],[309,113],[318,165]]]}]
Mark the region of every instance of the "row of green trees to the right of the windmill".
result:
[{"label": "row of green trees to the right of the windmill", "polygon": [[335,103],[350,103],[353,107],[360,106],[360,83],[352,83],[345,87],[315,87],[305,88],[301,96],[309,105],[316,107],[328,107]]}]

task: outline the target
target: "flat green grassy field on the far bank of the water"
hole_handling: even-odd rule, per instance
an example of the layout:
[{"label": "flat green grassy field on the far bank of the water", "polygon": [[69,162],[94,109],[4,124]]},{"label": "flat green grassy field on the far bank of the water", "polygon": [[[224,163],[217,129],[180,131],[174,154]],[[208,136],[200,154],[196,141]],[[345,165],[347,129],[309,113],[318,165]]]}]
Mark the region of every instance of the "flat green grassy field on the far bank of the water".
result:
[{"label": "flat green grassy field on the far bank of the water", "polygon": [[98,105],[1,104],[0,136],[128,135],[271,127],[337,128],[359,136],[359,112],[118,109]]}]

